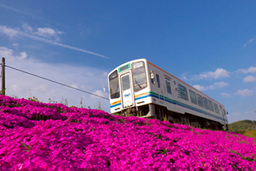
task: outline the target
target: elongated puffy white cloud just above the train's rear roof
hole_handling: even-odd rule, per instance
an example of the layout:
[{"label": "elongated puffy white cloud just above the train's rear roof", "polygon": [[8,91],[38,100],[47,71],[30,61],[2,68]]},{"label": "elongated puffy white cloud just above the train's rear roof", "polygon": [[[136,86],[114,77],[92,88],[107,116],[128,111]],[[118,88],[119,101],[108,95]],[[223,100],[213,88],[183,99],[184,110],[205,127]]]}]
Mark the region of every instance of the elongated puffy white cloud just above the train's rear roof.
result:
[{"label": "elongated puffy white cloud just above the train's rear roof", "polygon": [[229,77],[229,72],[226,71],[225,69],[222,68],[217,68],[216,71],[208,71],[208,72],[203,72],[200,75],[193,75],[192,79],[198,80],[198,79],[221,79]]}]

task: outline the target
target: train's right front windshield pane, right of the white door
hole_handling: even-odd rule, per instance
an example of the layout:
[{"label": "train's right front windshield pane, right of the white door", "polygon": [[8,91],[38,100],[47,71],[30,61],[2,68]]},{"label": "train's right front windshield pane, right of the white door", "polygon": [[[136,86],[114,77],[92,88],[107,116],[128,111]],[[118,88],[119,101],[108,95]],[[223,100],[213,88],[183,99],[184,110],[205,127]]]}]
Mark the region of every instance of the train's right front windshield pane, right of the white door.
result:
[{"label": "train's right front windshield pane, right of the white door", "polygon": [[134,92],[147,88],[147,78],[144,62],[132,63],[134,77]]}]

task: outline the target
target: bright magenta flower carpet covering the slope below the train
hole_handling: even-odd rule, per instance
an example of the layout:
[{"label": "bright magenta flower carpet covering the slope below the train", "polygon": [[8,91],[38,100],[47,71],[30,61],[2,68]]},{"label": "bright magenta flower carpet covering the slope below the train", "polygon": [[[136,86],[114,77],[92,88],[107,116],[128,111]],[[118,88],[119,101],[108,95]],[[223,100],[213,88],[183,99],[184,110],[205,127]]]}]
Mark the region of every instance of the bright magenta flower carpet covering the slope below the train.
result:
[{"label": "bright magenta flower carpet covering the slope below the train", "polygon": [[233,132],[0,96],[0,170],[256,170]]}]

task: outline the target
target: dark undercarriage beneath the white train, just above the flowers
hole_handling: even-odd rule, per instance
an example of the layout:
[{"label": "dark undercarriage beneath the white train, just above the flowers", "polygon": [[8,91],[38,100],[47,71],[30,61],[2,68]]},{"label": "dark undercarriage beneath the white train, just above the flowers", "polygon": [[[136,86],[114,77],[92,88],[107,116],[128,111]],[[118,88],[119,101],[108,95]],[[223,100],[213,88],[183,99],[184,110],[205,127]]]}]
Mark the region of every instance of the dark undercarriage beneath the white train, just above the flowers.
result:
[{"label": "dark undercarriage beneath the white train, just above the flowers", "polygon": [[156,104],[147,104],[134,108],[126,108],[121,112],[122,116],[140,116],[158,120],[170,121],[172,124],[187,124],[194,128],[206,128],[212,130],[228,130],[228,125],[217,121],[195,116],[190,113],[181,114],[167,110],[166,107]]}]

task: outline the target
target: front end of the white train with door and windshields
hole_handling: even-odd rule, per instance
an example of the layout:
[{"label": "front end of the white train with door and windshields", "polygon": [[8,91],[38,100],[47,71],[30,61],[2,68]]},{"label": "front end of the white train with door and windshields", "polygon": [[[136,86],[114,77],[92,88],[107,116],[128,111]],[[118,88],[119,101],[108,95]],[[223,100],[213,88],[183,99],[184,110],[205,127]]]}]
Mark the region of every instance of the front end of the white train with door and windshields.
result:
[{"label": "front end of the white train with door and windshields", "polygon": [[[148,92],[146,59],[124,63],[109,73],[110,112],[138,116],[136,99]],[[143,101],[145,104],[146,101]],[[143,105],[140,104],[140,105]]]}]

